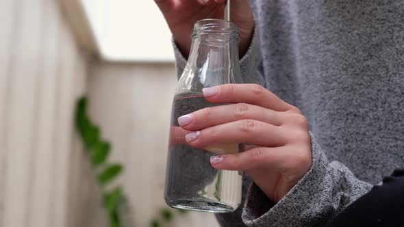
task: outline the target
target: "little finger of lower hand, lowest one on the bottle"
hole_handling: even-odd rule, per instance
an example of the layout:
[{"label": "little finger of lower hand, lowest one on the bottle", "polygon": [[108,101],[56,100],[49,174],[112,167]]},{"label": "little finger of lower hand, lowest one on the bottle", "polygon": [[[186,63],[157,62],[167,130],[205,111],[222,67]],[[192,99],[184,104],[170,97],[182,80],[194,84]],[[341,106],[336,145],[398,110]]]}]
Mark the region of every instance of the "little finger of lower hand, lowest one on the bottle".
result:
[{"label": "little finger of lower hand, lowest one on the bottle", "polygon": [[257,147],[238,154],[212,156],[210,163],[218,170],[254,170],[259,168],[281,170],[289,155],[287,146]]}]

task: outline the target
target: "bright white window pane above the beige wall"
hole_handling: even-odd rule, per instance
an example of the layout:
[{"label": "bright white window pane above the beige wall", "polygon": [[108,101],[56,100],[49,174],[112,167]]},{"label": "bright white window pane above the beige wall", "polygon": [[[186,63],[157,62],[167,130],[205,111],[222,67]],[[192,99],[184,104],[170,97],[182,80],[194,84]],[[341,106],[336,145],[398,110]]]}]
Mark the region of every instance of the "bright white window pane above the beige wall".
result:
[{"label": "bright white window pane above the beige wall", "polygon": [[154,1],[64,1],[81,1],[84,5],[103,59],[174,62],[171,31]]}]

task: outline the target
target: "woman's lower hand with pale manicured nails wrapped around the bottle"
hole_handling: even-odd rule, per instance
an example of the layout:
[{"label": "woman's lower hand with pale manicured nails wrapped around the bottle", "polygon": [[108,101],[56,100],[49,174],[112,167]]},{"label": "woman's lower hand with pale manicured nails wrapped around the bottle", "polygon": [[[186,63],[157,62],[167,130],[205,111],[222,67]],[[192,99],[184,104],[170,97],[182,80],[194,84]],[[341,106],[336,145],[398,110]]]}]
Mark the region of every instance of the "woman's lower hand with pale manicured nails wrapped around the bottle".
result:
[{"label": "woman's lower hand with pale manicured nails wrapped around the bottle", "polygon": [[[223,143],[249,143],[244,152],[211,158],[218,170],[244,170],[274,202],[310,170],[312,152],[307,120],[296,107],[256,84],[205,88],[209,107],[178,119],[195,148]],[[184,138],[184,137],[183,137]]]}]

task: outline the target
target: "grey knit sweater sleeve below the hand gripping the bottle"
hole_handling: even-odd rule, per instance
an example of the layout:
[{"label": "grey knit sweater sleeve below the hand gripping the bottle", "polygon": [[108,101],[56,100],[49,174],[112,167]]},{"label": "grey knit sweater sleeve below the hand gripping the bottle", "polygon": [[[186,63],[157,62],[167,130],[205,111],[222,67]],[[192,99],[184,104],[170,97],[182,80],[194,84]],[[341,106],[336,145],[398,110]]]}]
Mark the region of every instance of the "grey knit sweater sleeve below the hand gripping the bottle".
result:
[{"label": "grey knit sweater sleeve below the hand gripping the bottle", "polygon": [[323,226],[351,202],[370,191],[372,185],[359,181],[342,163],[329,163],[310,135],[312,168],[277,204],[251,184],[242,212],[249,227]]}]

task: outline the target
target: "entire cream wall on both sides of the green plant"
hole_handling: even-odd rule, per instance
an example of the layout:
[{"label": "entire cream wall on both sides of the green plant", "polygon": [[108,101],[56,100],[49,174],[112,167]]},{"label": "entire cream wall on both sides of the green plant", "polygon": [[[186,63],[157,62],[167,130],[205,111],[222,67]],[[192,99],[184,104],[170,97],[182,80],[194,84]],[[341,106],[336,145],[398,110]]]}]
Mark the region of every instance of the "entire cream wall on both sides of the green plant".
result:
[{"label": "entire cream wall on both sides of the green plant", "polygon": [[[165,206],[173,65],[94,63],[89,72],[58,1],[3,0],[0,15],[0,227],[107,226],[74,127],[86,91],[112,159],[125,165],[137,226],[149,226]],[[172,226],[216,220],[192,213]]]}]

